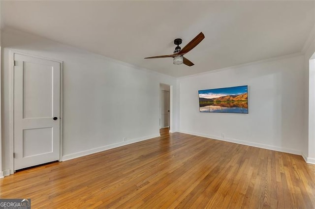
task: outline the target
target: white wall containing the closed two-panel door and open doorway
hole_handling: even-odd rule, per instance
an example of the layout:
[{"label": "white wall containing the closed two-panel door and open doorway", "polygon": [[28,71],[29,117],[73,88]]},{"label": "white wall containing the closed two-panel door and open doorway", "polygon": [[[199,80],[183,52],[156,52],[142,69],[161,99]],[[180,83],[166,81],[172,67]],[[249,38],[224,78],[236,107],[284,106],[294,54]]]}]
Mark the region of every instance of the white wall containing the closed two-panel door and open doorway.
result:
[{"label": "white wall containing the closed two-panel door and open doorway", "polygon": [[[10,49],[63,61],[63,159],[159,136],[159,83],[176,79],[4,28],[2,136],[9,169]],[[173,112],[174,127],[178,112]],[[124,142],[123,138],[127,141]]]}]

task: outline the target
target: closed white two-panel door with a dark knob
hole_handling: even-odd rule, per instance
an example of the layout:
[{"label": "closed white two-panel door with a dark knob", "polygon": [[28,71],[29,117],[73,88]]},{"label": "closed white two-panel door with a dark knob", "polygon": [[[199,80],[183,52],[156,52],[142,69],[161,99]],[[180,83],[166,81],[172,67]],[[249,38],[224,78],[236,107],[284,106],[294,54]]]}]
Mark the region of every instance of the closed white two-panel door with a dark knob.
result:
[{"label": "closed white two-panel door with a dark knob", "polygon": [[14,170],[60,159],[60,65],[14,54]]}]

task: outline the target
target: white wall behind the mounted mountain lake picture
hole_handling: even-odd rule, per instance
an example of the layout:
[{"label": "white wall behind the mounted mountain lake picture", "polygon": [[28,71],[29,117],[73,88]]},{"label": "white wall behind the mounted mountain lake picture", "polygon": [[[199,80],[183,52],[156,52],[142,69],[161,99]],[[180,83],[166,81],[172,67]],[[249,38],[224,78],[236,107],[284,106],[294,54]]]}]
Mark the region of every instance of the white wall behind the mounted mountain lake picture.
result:
[{"label": "white wall behind the mounted mountain lake picture", "polygon": [[[303,58],[291,55],[180,78],[180,131],[301,155]],[[240,85],[249,88],[249,114],[199,112],[198,90]]]}]

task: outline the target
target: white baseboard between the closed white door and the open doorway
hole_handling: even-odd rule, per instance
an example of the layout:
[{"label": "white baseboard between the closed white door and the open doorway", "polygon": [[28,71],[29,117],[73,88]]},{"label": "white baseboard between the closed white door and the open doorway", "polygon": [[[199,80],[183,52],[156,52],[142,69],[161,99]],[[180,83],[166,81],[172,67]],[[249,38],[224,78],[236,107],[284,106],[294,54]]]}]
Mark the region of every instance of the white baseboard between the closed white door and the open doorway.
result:
[{"label": "white baseboard between the closed white door and the open doorway", "polygon": [[152,139],[152,138],[159,137],[159,136],[160,135],[158,133],[158,134],[154,134],[154,135],[150,135],[150,136],[144,136],[144,137],[141,137],[141,138],[131,139],[131,140],[123,141],[123,142],[118,142],[118,143],[115,143],[115,144],[106,145],[106,146],[103,146],[103,147],[97,147],[97,148],[93,148],[93,149],[90,149],[90,150],[85,150],[85,151],[81,151],[81,152],[77,152],[77,153],[73,153],[73,154],[64,155],[61,161],[66,161],[66,160],[74,159],[74,158],[77,158],[77,157],[83,157],[83,156],[91,155],[91,154],[94,154],[94,153],[102,152],[102,151],[105,151],[105,150],[110,150],[110,149],[113,149],[113,148],[116,148],[116,147],[121,147],[121,146],[124,146],[124,145],[127,145],[127,144],[133,144],[133,143],[136,143],[136,142],[139,142],[139,141],[144,141],[144,140]]}]

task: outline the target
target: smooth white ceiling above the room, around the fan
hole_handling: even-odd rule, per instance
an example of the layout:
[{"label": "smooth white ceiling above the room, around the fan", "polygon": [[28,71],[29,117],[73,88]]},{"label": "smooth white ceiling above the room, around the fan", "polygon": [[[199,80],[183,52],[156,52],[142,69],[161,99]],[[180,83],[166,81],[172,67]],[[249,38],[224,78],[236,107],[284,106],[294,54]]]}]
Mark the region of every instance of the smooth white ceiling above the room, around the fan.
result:
[{"label": "smooth white ceiling above the room, around the fan", "polygon": [[[174,77],[301,52],[315,1],[2,1],[4,26]],[[205,39],[173,65],[200,31]]]}]

